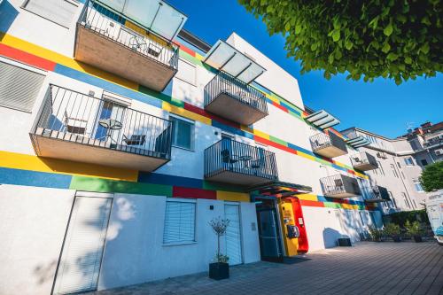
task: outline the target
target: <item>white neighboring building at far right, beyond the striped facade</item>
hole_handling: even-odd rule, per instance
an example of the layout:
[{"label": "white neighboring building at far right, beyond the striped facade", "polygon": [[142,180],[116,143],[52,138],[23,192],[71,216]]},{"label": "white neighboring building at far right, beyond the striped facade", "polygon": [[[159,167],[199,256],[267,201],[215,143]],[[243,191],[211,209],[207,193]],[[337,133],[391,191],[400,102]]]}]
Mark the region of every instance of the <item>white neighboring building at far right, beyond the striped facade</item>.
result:
[{"label": "white neighboring building at far right, beyond the striped facade", "polygon": [[[359,148],[377,160],[378,168],[370,171],[370,181],[383,185],[391,197],[382,203],[384,213],[424,209],[427,194],[420,182],[425,166],[442,160],[443,124],[426,122],[409,130],[405,136],[389,139],[361,128],[347,128],[342,134],[362,136],[370,144]],[[442,150],[443,152],[443,150]]]}]

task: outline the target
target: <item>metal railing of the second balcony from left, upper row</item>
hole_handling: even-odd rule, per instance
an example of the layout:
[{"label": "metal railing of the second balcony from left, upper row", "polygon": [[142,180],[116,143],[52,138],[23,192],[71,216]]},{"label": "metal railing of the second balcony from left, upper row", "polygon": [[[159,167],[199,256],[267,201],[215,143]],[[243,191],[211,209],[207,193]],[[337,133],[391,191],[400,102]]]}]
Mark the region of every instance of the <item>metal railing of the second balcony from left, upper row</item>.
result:
[{"label": "metal railing of the second balcony from left, upper row", "polygon": [[[268,114],[265,96],[259,90],[224,72],[216,74],[213,80],[206,84],[205,107],[221,94],[237,99],[237,101],[260,113]],[[235,110],[232,110],[232,112],[235,112]]]}]

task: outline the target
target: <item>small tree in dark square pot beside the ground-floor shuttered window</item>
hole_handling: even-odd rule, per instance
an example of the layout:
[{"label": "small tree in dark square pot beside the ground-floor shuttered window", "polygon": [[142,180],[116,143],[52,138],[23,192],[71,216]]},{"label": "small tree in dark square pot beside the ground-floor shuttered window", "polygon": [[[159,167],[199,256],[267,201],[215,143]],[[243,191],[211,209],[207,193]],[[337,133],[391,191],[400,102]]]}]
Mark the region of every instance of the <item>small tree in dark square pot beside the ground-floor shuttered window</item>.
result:
[{"label": "small tree in dark square pot beside the ground-floor shuttered window", "polygon": [[220,252],[220,238],[226,234],[229,219],[221,219],[219,216],[209,221],[209,225],[213,228],[215,235],[217,235],[217,253],[215,254],[215,262],[209,264],[209,277],[214,280],[229,278],[229,257]]}]

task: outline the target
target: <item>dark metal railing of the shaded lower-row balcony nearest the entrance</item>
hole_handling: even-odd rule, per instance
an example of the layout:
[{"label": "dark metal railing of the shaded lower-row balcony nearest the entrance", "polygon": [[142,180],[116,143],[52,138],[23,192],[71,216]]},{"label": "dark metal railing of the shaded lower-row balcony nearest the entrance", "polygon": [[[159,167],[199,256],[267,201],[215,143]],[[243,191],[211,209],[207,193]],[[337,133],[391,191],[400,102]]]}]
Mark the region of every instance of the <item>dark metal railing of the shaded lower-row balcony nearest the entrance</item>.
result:
[{"label": "dark metal railing of the shaded lower-row balcony nearest the entrance", "polygon": [[278,178],[276,155],[272,151],[223,138],[204,151],[205,177],[224,171],[255,175],[270,180]]}]

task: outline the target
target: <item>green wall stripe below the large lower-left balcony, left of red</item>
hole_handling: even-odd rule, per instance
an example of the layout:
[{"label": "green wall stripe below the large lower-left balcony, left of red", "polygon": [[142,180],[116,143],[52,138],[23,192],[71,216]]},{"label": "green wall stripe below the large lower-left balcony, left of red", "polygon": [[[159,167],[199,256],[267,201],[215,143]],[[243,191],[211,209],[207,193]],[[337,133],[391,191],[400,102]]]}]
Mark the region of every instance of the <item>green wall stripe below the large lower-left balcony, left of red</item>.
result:
[{"label": "green wall stripe below the large lower-left balcony, left of red", "polygon": [[172,197],[171,185],[114,181],[77,175],[73,176],[69,189]]}]

